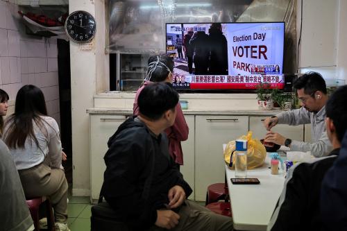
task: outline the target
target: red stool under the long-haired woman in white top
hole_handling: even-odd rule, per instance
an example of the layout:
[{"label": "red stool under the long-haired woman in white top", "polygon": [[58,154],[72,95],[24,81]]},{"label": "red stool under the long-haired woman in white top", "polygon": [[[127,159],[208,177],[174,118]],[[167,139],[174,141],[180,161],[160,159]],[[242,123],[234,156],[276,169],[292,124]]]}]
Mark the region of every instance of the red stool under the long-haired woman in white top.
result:
[{"label": "red stool under the long-haired woman in white top", "polygon": [[31,218],[34,221],[35,230],[36,231],[40,230],[39,208],[42,203],[46,203],[46,217],[47,217],[48,230],[56,231],[56,227],[54,225],[54,216],[53,216],[51,201],[48,198],[45,198],[44,196],[26,199],[26,204],[29,207]]}]

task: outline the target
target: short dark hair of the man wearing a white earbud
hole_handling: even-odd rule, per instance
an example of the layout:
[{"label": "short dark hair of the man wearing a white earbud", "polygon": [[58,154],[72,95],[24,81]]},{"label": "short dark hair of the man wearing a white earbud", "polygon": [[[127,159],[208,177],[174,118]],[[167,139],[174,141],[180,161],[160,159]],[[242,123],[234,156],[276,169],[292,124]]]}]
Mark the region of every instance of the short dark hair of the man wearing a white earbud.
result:
[{"label": "short dark hair of the man wearing a white earbud", "polygon": [[[323,94],[327,94],[325,80],[321,74],[311,71],[303,74],[300,78],[294,82],[295,89],[304,89],[305,94],[314,94],[316,91],[321,91]],[[313,96],[312,96],[313,97]]]}]

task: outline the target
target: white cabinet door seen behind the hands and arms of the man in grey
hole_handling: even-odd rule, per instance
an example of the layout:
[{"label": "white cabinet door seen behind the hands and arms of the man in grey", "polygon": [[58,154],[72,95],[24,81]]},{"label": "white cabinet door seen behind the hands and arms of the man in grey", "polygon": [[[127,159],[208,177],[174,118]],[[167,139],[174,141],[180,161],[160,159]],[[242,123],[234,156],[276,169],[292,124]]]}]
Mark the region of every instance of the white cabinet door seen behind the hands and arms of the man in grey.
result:
[{"label": "white cabinet door seen behind the hands and arms of the man in grey", "polygon": [[[266,135],[262,119],[266,117],[249,117],[249,130],[253,132],[253,138],[263,139]],[[303,141],[303,125],[289,126],[287,124],[278,124],[271,129],[273,132],[278,132],[280,135],[289,139]]]}]

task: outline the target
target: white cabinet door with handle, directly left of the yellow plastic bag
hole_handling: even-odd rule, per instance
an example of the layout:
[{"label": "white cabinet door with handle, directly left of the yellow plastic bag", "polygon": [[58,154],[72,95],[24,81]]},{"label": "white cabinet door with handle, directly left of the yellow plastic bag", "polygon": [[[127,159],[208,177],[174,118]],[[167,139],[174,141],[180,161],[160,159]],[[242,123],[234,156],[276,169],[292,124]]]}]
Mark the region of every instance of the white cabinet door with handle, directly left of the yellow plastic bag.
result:
[{"label": "white cabinet door with handle, directly left of the yellow plastic bag", "polygon": [[247,116],[197,115],[195,146],[195,200],[205,200],[208,185],[224,182],[223,144],[246,135]]}]

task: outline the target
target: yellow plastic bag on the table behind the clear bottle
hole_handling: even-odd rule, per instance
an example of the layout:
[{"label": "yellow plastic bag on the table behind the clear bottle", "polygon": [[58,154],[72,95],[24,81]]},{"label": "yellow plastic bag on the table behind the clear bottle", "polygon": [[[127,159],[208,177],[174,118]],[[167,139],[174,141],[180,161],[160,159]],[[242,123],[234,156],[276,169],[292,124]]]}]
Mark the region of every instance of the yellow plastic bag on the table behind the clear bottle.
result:
[{"label": "yellow plastic bag on the table behind the clear bottle", "polygon": [[[247,169],[255,169],[258,166],[262,166],[266,157],[264,145],[262,145],[258,139],[252,139],[252,134],[253,132],[249,131],[247,135],[238,138],[247,140]],[[224,150],[224,160],[228,166],[230,163],[230,155],[234,150],[235,140],[232,140],[226,145],[226,149]],[[233,155],[231,169],[235,168],[235,160],[235,155]]]}]

